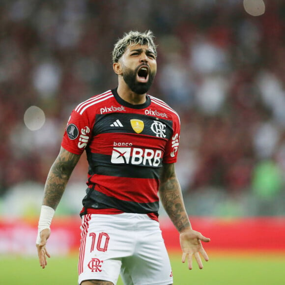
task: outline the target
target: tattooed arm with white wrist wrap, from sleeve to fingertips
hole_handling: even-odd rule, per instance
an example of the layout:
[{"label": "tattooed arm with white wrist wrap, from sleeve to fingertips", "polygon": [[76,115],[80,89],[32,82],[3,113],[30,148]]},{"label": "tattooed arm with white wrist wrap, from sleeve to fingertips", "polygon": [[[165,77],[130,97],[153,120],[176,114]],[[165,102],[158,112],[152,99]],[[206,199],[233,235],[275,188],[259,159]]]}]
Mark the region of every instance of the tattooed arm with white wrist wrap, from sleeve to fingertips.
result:
[{"label": "tattooed arm with white wrist wrap, from sleeve to fingertips", "polygon": [[39,262],[42,268],[45,268],[47,265],[47,256],[51,257],[46,249],[46,244],[51,234],[49,225],[52,221],[54,210],[57,208],[66,184],[79,158],[80,155],[73,154],[61,147],[48,174],[36,244]]}]

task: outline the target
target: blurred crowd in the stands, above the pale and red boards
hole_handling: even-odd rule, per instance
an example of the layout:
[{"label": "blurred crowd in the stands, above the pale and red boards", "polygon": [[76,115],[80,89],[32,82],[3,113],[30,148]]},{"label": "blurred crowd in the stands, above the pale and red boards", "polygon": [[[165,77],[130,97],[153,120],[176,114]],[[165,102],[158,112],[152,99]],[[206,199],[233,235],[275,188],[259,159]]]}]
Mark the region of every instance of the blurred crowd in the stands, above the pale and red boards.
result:
[{"label": "blurred crowd in the stands, above the pale and red boards", "polygon": [[[184,193],[284,193],[285,1],[259,17],[242,2],[1,0],[0,195],[44,183],[72,109],[116,87],[111,52],[131,29],[156,36],[149,93],[180,114]],[[46,116],[36,131],[23,120],[32,105]],[[86,171],[83,159],[71,179]]]}]

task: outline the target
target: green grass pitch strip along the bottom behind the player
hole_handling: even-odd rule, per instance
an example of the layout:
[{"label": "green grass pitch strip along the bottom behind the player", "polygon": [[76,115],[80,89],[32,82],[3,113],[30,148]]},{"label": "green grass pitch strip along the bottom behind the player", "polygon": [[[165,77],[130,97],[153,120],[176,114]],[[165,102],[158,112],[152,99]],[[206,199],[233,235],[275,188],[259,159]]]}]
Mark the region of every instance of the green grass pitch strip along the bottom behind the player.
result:
[{"label": "green grass pitch strip along the bottom behind the player", "polygon": [[[171,255],[174,285],[283,285],[285,255],[209,253],[210,261],[188,270],[180,255]],[[196,264],[195,264],[196,265]],[[0,256],[0,284],[76,285],[77,256],[52,257],[42,269],[36,258]],[[122,285],[119,280],[117,285]]]}]

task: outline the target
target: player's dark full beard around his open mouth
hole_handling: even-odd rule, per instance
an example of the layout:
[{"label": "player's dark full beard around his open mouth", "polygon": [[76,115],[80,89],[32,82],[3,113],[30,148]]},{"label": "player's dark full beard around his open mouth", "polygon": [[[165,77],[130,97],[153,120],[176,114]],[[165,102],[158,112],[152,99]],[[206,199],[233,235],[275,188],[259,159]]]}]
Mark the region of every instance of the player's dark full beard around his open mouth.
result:
[{"label": "player's dark full beard around his open mouth", "polygon": [[149,73],[148,81],[146,83],[137,82],[136,78],[137,78],[137,73],[138,73],[139,68],[140,66],[137,67],[137,69],[133,71],[125,67],[125,70],[123,73],[123,79],[133,92],[135,92],[136,94],[142,95],[142,94],[145,94],[149,90],[150,86],[152,85],[153,79],[155,77],[155,73],[151,73],[151,72]]}]

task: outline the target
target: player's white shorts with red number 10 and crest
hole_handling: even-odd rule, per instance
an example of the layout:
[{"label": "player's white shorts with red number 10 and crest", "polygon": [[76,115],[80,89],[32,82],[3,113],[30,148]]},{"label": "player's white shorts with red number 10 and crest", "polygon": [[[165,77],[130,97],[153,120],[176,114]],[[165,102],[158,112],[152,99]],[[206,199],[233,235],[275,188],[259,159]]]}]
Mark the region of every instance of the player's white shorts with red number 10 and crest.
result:
[{"label": "player's white shorts with red number 10 and crest", "polygon": [[81,226],[78,262],[80,285],[85,280],[125,285],[169,285],[171,264],[159,223],[145,214],[87,214]]}]

